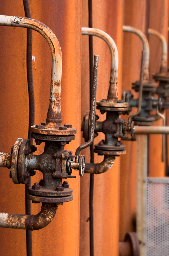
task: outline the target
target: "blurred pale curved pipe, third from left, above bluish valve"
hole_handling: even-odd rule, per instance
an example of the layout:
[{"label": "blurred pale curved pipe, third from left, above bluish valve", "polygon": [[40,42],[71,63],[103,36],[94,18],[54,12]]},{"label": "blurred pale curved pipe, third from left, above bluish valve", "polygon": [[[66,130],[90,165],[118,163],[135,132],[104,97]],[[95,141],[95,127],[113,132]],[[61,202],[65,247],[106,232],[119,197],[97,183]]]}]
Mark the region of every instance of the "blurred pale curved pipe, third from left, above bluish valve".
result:
[{"label": "blurred pale curved pipe, third from left, above bluish valve", "polygon": [[143,80],[149,80],[149,42],[146,36],[140,30],[130,26],[123,26],[123,31],[134,33],[140,37],[143,44],[143,50],[145,51]]}]

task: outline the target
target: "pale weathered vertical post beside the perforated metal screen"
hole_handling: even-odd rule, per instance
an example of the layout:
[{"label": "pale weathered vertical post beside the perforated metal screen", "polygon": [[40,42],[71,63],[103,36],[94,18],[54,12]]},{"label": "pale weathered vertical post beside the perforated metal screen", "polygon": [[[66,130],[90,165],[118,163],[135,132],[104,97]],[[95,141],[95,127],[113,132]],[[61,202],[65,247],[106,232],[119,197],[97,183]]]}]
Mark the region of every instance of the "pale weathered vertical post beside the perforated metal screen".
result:
[{"label": "pale weathered vertical post beside the perforated metal screen", "polygon": [[137,135],[137,236],[140,255],[146,255],[147,134]]}]

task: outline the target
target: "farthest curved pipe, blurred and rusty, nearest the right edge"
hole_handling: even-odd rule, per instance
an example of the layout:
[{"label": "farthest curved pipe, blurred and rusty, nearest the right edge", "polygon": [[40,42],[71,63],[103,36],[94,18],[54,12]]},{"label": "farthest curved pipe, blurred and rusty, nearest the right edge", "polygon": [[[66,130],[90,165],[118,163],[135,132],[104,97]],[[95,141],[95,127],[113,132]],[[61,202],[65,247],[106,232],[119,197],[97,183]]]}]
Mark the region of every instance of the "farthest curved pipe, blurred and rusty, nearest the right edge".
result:
[{"label": "farthest curved pipe, blurred and rusty, nearest the right edge", "polygon": [[161,42],[161,65],[160,65],[160,73],[166,73],[167,72],[167,43],[163,35],[161,35],[159,32],[148,29],[148,33],[153,36],[157,36],[158,39]]}]

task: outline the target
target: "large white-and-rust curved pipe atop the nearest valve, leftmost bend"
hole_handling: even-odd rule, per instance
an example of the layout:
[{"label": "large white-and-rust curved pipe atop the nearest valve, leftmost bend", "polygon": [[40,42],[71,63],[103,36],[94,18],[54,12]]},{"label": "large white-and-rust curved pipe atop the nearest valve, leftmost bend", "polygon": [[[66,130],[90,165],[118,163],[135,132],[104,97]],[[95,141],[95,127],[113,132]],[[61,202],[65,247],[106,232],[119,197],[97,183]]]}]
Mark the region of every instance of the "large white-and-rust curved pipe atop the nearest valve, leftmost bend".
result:
[{"label": "large white-and-rust curved pipe atop the nearest valve, leftmost bend", "polygon": [[55,34],[45,24],[38,20],[24,17],[0,15],[0,25],[9,27],[24,27],[38,31],[47,40],[52,54],[52,72],[50,87],[50,105],[47,113],[45,128],[57,128],[62,123],[60,105],[62,52]]}]

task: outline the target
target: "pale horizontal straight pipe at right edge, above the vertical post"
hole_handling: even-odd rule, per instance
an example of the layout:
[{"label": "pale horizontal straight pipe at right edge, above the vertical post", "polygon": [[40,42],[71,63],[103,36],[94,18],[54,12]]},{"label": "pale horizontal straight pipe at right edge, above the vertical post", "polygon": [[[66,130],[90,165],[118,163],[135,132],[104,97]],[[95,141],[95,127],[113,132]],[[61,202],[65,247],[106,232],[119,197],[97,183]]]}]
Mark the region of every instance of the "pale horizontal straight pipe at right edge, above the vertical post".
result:
[{"label": "pale horizontal straight pipe at right edge, above the vertical post", "polygon": [[134,125],[136,134],[169,134],[169,126],[137,126]]}]

